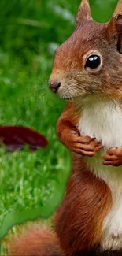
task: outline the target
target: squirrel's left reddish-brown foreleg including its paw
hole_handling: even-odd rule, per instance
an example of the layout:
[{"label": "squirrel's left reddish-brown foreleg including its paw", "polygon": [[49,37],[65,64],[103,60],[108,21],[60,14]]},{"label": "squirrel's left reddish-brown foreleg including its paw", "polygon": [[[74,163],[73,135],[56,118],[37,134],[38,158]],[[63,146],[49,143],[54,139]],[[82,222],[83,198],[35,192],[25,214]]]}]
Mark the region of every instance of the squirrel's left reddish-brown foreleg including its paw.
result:
[{"label": "squirrel's left reddish-brown foreleg including its paw", "polygon": [[[80,135],[77,124],[79,121],[79,109],[73,102],[67,102],[65,110],[61,114],[61,117],[57,121],[57,135],[61,143],[65,145],[69,150],[83,155],[92,156],[100,149],[101,144],[94,141],[90,137],[82,137]],[[79,145],[80,143],[80,145]],[[83,148],[79,148],[79,146]],[[92,148],[90,152],[85,150],[88,147]]]}]

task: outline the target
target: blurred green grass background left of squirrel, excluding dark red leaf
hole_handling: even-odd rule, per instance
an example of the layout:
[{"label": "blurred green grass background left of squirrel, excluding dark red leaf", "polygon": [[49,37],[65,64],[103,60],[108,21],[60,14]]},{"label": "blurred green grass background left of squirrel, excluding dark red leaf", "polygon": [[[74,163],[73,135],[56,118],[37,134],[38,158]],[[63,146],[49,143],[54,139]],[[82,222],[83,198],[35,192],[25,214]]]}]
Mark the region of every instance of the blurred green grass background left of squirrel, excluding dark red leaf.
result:
[{"label": "blurred green grass background left of squirrel, excluding dark red leaf", "polygon": [[[46,150],[0,150],[0,225],[12,210],[43,206],[68,168],[55,124],[65,101],[47,86],[54,51],[75,28],[78,0],[0,1],[0,125],[35,128]],[[3,253],[3,249],[2,249]]]}]

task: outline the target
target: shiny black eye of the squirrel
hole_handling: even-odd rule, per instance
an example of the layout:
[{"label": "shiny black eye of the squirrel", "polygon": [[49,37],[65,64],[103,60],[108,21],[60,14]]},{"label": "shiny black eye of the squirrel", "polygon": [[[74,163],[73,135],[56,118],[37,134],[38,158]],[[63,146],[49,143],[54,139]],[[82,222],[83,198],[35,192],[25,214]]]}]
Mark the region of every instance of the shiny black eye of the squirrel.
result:
[{"label": "shiny black eye of the squirrel", "polygon": [[101,59],[98,55],[91,55],[87,58],[85,68],[96,69],[101,63]]}]

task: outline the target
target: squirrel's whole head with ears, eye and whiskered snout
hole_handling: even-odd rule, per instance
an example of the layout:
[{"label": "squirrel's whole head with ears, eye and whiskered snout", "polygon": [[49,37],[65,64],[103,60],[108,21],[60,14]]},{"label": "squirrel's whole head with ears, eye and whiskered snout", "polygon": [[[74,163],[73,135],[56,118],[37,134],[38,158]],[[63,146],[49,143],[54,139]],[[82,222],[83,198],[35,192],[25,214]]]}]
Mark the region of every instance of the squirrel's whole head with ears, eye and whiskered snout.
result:
[{"label": "squirrel's whole head with ears, eye and whiskered snout", "polygon": [[122,98],[122,15],[97,23],[83,0],[75,31],[56,50],[49,85],[65,99],[86,95]]}]

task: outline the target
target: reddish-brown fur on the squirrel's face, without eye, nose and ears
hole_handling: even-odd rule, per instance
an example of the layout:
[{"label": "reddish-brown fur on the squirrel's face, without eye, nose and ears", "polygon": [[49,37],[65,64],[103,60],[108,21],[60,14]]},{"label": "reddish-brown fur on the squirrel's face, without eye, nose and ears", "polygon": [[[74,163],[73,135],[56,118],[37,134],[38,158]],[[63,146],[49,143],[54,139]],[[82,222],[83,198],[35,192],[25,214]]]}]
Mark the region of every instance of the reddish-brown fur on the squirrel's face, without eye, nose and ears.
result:
[{"label": "reddish-brown fur on the squirrel's face, without eye, nose and ears", "polygon": [[[122,98],[120,76],[122,62],[120,55],[116,54],[117,41],[115,19],[107,25],[90,20],[76,29],[72,36],[57,49],[54,69],[50,76],[50,81],[59,80],[63,83],[62,98],[77,98],[86,93]],[[105,65],[102,65],[101,72],[93,73],[92,70],[87,72],[83,69],[85,62],[83,56],[94,48],[107,58],[103,58]],[[82,76],[79,76],[81,72]],[[93,80],[94,87],[92,87]]]}]

